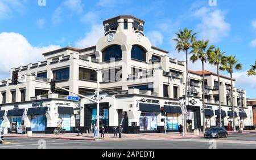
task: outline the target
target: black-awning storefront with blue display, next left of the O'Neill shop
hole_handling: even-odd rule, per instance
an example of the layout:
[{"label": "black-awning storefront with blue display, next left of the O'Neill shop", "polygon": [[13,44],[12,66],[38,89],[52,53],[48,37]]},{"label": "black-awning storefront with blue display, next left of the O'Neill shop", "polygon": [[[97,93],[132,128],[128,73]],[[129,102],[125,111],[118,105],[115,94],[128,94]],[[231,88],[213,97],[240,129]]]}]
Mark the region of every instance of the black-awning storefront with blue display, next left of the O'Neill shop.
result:
[{"label": "black-awning storefront with blue display, next left of the O'Neill shop", "polygon": [[44,132],[47,127],[46,112],[48,107],[30,108],[27,115],[31,116],[31,128],[33,132]]}]

